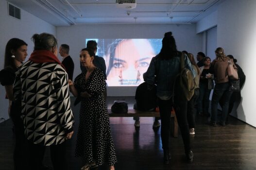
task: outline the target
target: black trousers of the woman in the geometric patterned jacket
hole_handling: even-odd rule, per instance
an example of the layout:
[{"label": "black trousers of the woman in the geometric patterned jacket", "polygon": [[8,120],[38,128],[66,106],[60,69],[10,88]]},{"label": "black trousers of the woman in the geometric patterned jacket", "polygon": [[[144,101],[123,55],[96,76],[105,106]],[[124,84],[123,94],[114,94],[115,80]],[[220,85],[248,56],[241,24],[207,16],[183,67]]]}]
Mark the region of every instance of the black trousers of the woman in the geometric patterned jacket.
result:
[{"label": "black trousers of the woman in the geometric patterned jacket", "polygon": [[50,147],[51,162],[54,170],[68,170],[66,160],[67,141],[57,145],[43,146],[28,142],[29,170],[40,170],[45,149]]}]

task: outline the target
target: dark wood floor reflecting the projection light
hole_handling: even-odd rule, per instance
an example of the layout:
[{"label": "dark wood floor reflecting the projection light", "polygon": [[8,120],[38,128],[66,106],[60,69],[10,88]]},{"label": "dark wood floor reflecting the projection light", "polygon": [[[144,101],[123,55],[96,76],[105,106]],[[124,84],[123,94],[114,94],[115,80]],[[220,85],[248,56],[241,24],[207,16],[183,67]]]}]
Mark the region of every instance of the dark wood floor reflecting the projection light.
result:
[{"label": "dark wood floor reflecting the projection light", "polygon": [[[132,97],[108,98],[108,107],[114,100],[126,100],[132,107]],[[73,99],[72,99],[73,101]],[[80,170],[81,160],[74,157],[79,107],[73,107],[75,133],[67,148],[70,170]],[[194,162],[186,163],[181,136],[171,137],[171,164],[163,164],[160,128],[152,128],[153,118],[140,119],[140,128],[134,127],[131,117],[110,118],[113,140],[118,156],[116,170],[256,170],[256,128],[233,117],[226,127],[205,125],[206,117],[196,117],[195,136],[191,136]],[[11,120],[0,124],[0,170],[13,170],[14,135]],[[51,166],[49,151],[44,163]],[[105,170],[101,167],[100,170]]]}]

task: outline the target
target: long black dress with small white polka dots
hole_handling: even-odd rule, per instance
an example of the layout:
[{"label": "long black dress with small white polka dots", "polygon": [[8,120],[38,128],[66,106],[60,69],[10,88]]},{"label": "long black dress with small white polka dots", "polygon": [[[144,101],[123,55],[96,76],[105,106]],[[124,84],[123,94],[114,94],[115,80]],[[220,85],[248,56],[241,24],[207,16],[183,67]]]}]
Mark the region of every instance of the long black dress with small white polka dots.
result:
[{"label": "long black dress with small white polka dots", "polygon": [[86,91],[91,95],[81,100],[75,156],[81,156],[84,163],[114,165],[117,157],[103,96],[104,75],[96,68],[85,81],[85,74],[86,71],[79,74],[74,81],[79,93]]}]

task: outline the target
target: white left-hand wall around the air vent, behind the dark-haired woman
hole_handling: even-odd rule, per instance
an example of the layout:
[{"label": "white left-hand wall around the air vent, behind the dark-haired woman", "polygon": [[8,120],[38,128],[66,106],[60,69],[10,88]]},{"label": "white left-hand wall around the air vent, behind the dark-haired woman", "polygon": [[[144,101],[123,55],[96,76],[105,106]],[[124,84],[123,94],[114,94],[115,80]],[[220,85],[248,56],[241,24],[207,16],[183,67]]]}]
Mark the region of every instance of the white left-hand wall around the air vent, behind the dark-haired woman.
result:
[{"label": "white left-hand wall around the air vent, behind the dark-haired woman", "polygon": [[[34,33],[48,32],[56,35],[56,28],[51,24],[22,9],[21,20],[18,20],[8,15],[7,7],[7,1],[0,0],[0,70],[4,65],[5,45],[11,38],[19,38],[28,44],[28,59],[34,48],[31,41]],[[2,85],[0,85],[0,118],[9,118],[8,99],[5,99],[5,89]]]}]

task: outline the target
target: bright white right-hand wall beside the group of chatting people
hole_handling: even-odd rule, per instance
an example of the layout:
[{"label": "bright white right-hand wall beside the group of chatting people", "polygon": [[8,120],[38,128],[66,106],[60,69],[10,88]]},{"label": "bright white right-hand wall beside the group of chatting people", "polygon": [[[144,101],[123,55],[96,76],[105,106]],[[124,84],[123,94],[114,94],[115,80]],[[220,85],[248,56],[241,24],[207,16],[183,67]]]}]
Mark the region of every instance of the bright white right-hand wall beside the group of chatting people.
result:
[{"label": "bright white right-hand wall beside the group of chatting people", "polygon": [[246,75],[241,102],[232,115],[256,127],[256,0],[225,0],[218,10],[197,23],[197,32],[217,25],[217,47],[233,55]]}]

